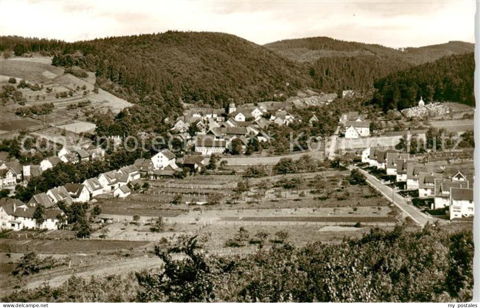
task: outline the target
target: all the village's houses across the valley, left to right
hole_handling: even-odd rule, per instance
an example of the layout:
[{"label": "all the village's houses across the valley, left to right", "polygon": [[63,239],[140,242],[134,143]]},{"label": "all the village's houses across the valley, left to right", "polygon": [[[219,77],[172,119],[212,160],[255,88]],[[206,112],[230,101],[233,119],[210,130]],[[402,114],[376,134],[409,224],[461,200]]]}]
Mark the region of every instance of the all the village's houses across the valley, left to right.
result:
[{"label": "all the village's houses across the valley, left to right", "polygon": [[[343,95],[352,95],[352,93],[344,91]],[[332,100],[324,101],[321,104],[331,102]],[[138,196],[138,187],[146,188],[142,190],[142,194],[150,193],[147,187],[155,187],[155,183],[158,181],[158,183],[175,182],[175,179],[184,177],[184,175],[180,175],[182,172],[185,174],[184,170],[191,174],[188,178],[192,178],[193,187],[197,184],[194,180],[195,177],[199,176],[202,171],[206,171],[212,155],[216,157],[216,160],[220,160],[220,166],[223,166],[224,170],[233,171],[230,174],[235,174],[235,170],[244,173],[245,168],[239,169],[238,166],[235,168],[235,165],[225,168],[228,165],[228,157],[231,157],[232,154],[235,156],[235,154],[245,153],[252,139],[258,143],[269,143],[271,137],[264,131],[269,125],[288,126],[295,121],[301,121],[296,115],[289,112],[293,105],[294,102],[271,102],[237,107],[232,102],[226,111],[212,108],[189,108],[183,116],[171,122],[170,134],[174,138],[185,141],[187,148],[193,147],[193,152],[188,154],[180,152],[176,155],[169,149],[163,149],[150,159],[137,159],[132,165],[100,173],[97,177],[85,179],[83,183],[67,183],[63,186],[52,187],[46,192],[35,194],[25,203],[18,199],[5,200],[5,204],[1,207],[1,228],[15,231],[22,229],[55,230],[65,221],[65,217],[62,217],[65,214],[56,207],[60,201],[70,205],[73,202],[96,202],[99,197],[135,198]],[[435,105],[427,106],[432,109],[431,106]],[[420,99],[418,107],[413,110],[422,110],[422,108],[425,108],[425,104]],[[431,115],[444,114],[445,107],[440,110],[440,114]],[[423,115],[422,112],[420,115]],[[315,114],[309,119],[310,124],[317,121]],[[168,119],[166,122],[170,123]],[[467,179],[459,170],[455,174],[444,172],[444,167],[424,162],[422,155],[401,153],[395,149],[396,143],[371,146],[382,138],[379,136],[376,139],[368,139],[371,137],[371,123],[358,112],[342,114],[339,118],[337,132],[340,132],[343,143],[336,140],[338,139],[336,136],[332,137],[330,143],[325,145],[325,148],[328,148],[325,150],[326,158],[331,159],[332,154],[337,157],[346,155],[346,153],[360,155],[361,150],[361,163],[368,166],[368,169],[365,170],[380,179],[382,185],[389,185],[392,191],[402,192],[404,197],[409,198],[410,204],[413,197],[415,207],[419,208],[420,204],[424,205],[432,213],[436,213],[435,216],[449,216],[450,220],[473,216],[473,178]],[[115,138],[118,143],[121,143],[120,136]],[[332,139],[336,141],[338,148],[335,145],[332,147]],[[364,144],[370,146],[359,150],[361,145],[355,144],[351,148],[345,149],[345,142],[348,143],[352,139],[364,141]],[[394,138],[394,140],[398,141],[398,138]],[[335,154],[331,153],[332,150]],[[229,156],[225,156],[225,153],[229,153]],[[223,162],[221,161],[222,156],[226,157]],[[104,158],[105,150],[102,148],[64,146],[58,151],[57,156],[48,157],[39,165],[21,165],[18,160],[8,158],[7,152],[1,152],[0,186],[4,189],[12,189],[12,194],[16,185],[25,186],[31,177],[38,176],[60,163],[76,164],[79,161],[89,162],[104,160]],[[284,159],[288,159],[288,156],[285,156]],[[253,160],[255,158],[251,158],[251,161]],[[282,157],[279,157],[276,164],[279,164],[281,160]],[[221,172],[216,174],[221,174]],[[228,176],[229,173],[225,174]],[[145,183],[147,184],[144,185]],[[235,184],[231,186],[235,186]],[[233,189],[234,187],[229,188]],[[184,195],[185,192],[181,192],[181,194]],[[177,195],[181,196],[181,194]],[[193,191],[192,194],[194,194]],[[187,205],[206,204],[208,203],[206,196],[207,194],[204,194],[203,200],[185,201],[184,203]],[[177,204],[179,203],[177,202]],[[34,218],[35,209],[39,206],[46,209],[43,214],[45,219],[42,219],[41,223]]]}]

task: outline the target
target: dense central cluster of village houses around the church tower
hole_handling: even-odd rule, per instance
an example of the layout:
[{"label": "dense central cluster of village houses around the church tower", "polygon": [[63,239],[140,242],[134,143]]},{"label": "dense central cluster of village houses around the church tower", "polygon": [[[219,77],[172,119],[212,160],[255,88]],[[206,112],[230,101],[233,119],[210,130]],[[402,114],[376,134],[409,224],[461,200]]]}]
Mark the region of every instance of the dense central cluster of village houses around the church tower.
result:
[{"label": "dense central cluster of village houses around the church tower", "polygon": [[[194,146],[195,152],[202,155],[231,151],[232,141],[239,139],[243,152],[252,139],[270,142],[271,137],[264,131],[270,124],[288,126],[300,121],[289,110],[292,103],[265,102],[237,107],[230,103],[227,111],[213,108],[192,108],[176,119],[170,132]],[[310,123],[318,121],[312,116]],[[189,132],[195,132],[191,136]]]}]

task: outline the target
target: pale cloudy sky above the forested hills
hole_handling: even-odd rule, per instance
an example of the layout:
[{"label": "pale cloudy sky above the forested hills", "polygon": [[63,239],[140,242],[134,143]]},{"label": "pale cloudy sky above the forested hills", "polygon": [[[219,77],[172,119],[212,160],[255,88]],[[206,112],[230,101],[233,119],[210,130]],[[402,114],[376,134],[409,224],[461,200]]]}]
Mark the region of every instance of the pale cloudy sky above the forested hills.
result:
[{"label": "pale cloudy sky above the forested hills", "polygon": [[473,43],[475,9],[475,0],[0,0],[0,35],[72,42],[181,30],[419,47]]}]

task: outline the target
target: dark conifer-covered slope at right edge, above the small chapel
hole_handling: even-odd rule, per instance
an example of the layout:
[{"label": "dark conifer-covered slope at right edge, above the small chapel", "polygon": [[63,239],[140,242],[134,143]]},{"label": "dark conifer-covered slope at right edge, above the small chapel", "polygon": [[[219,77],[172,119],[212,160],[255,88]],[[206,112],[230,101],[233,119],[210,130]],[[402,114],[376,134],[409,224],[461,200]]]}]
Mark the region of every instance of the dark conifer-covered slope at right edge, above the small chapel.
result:
[{"label": "dark conifer-covered slope at right edge, above the small chapel", "polygon": [[412,107],[420,97],[427,103],[452,101],[474,106],[474,71],[473,52],[445,56],[376,81],[372,102],[384,111]]}]

